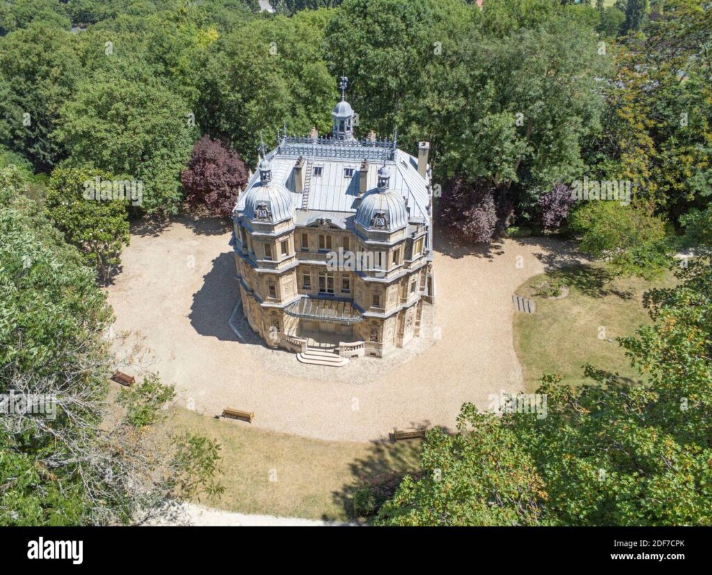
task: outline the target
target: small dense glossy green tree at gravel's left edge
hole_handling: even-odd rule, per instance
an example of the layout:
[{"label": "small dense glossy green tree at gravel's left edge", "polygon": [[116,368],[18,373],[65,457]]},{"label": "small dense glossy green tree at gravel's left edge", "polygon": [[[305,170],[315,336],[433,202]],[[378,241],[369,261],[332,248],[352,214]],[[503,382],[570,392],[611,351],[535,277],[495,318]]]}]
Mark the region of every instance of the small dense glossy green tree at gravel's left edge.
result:
[{"label": "small dense glossy green tree at gravel's left edge", "polygon": [[98,271],[100,284],[106,284],[120,264],[122,246],[130,241],[128,201],[114,197],[115,192],[125,193],[114,189],[115,181],[91,168],[58,167],[47,190],[46,205],[54,225],[66,242],[85,254]]}]

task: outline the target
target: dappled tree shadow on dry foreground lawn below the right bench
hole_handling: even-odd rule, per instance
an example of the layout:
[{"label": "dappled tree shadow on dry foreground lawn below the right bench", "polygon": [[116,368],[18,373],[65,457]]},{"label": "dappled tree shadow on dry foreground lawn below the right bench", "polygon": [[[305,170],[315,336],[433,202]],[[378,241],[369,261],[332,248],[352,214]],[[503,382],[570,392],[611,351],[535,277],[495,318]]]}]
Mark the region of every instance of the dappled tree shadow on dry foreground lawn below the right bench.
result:
[{"label": "dappled tree shadow on dry foreground lawn below the right bench", "polygon": [[[428,421],[412,422],[411,427],[430,427]],[[446,433],[453,430],[441,426]],[[423,440],[409,441],[372,441],[367,456],[358,458],[349,464],[352,480],[333,491],[334,502],[342,507],[350,520],[359,521],[354,510],[354,496],[362,489],[369,488],[377,493],[378,505],[390,498],[404,475],[418,477],[420,471],[420,456]],[[333,517],[323,517],[333,520]]]}]

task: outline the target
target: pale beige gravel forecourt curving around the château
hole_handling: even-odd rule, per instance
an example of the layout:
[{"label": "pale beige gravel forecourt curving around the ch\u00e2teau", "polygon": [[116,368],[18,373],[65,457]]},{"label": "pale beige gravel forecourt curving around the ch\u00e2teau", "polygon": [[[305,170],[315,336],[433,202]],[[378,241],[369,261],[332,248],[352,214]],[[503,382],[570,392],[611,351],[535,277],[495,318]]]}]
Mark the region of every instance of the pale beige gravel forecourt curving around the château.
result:
[{"label": "pale beige gravel forecourt curving around the ch\u00e2teau", "polygon": [[255,426],[330,440],[384,439],[394,427],[420,424],[452,429],[463,402],[487,409],[489,394],[523,389],[511,295],[528,277],[575,259],[556,240],[472,249],[436,237],[429,335],[398,358],[335,368],[237,338],[229,325],[239,298],[229,237],[213,220],[135,231],[108,289],[115,331],[145,338],[152,370],[175,384],[189,409],[209,416],[246,409]]}]

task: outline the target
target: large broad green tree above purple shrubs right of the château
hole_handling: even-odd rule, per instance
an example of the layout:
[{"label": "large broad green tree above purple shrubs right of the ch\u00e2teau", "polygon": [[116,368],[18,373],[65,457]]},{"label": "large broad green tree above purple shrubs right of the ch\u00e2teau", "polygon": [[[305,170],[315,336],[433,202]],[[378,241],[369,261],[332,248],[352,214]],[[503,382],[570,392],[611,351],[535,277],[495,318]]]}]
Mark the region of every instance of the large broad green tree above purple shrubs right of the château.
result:
[{"label": "large broad green tree above purple shrubs right of the ch\u00e2teau", "polygon": [[435,136],[435,177],[465,174],[495,188],[498,233],[580,178],[582,147],[600,130],[610,56],[595,10],[538,0],[489,4],[426,65],[414,117]]}]

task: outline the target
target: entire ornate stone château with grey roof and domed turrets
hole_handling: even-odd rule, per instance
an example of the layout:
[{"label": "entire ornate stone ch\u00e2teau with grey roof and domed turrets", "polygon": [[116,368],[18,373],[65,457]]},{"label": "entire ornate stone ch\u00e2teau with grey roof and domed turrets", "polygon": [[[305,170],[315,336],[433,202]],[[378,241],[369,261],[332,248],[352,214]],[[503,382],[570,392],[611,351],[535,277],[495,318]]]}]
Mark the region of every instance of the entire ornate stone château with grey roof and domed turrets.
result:
[{"label": "entire ornate stone ch\u00e2teau with grey roof and domed turrets", "polygon": [[419,335],[434,302],[427,145],[414,158],[357,141],[337,117],[352,113],[337,105],[330,139],[281,136],[239,196],[236,278],[268,345],[382,357]]}]

